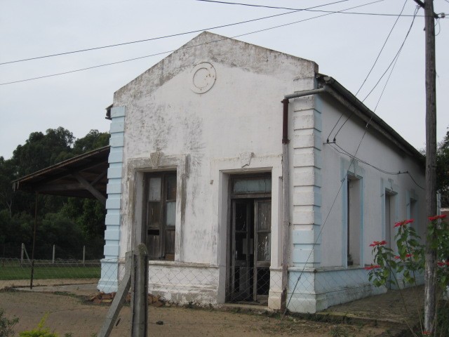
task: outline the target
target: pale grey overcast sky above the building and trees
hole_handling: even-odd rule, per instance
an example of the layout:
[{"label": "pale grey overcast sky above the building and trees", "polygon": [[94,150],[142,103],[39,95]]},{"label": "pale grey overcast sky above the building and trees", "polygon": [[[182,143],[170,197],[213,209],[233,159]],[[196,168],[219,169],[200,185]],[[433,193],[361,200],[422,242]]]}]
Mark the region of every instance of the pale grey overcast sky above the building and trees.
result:
[{"label": "pale grey overcast sky above the building and trees", "polygon": [[[310,8],[337,0],[241,0],[246,4]],[[394,60],[406,37],[415,11],[413,0],[346,0],[315,8],[322,11],[398,14],[403,16],[357,97],[363,100]],[[434,1],[436,13],[449,13],[448,0]],[[256,8],[194,0],[146,1],[6,1],[0,0],[0,63],[55,53],[152,39],[126,46],[0,65],[0,84],[94,67],[130,58],[173,51],[201,30],[226,37],[297,22],[285,27],[236,37],[251,44],[313,60],[319,71],[356,93],[386,41],[396,16],[334,13],[277,8]],[[263,18],[241,25],[211,29],[234,22]],[[418,149],[425,147],[424,10],[420,9],[398,61],[380,95],[387,73],[365,100],[384,121]],[[302,22],[298,22],[302,21]],[[438,141],[449,126],[449,19],[436,25],[436,80]],[[91,129],[109,130],[105,107],[114,91],[166,57],[142,58],[55,77],[0,85],[0,156],[10,158],[29,133],[62,126],[81,138]],[[391,68],[390,68],[391,69]]]}]

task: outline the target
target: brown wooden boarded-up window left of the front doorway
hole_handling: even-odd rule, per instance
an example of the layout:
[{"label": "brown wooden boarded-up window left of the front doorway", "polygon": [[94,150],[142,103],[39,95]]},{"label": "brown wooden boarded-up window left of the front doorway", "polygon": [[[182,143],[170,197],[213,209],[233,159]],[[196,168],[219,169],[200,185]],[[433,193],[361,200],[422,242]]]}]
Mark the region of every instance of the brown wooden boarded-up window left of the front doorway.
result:
[{"label": "brown wooden boarded-up window left of the front doorway", "polygon": [[144,223],[150,260],[175,260],[176,172],[145,175]]}]

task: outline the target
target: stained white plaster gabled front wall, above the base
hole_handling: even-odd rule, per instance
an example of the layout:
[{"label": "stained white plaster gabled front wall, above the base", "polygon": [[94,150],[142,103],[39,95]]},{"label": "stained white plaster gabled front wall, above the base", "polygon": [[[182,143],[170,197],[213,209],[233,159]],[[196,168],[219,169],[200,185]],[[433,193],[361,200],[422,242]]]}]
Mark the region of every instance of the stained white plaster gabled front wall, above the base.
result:
[{"label": "stained white plaster gabled front wall, above the base", "polygon": [[[212,172],[213,162],[229,159],[230,166],[222,165],[227,172],[273,173],[272,232],[279,230],[281,100],[286,93],[314,88],[314,62],[231,39],[205,44],[218,38],[222,39],[210,33],[199,35],[187,46],[203,45],[176,51],[114,95],[114,106],[126,106],[123,175],[128,161],[148,158],[152,152],[189,157],[180,243],[183,263],[223,265],[225,261],[218,258],[226,236],[222,233],[217,241],[225,218],[217,209],[220,179],[218,172]],[[202,94],[190,88],[192,68],[200,62],[210,62],[216,70],[214,86]],[[242,152],[253,152],[244,169],[239,160]],[[135,230],[128,213],[133,192],[127,180],[122,191],[124,255]],[[277,242],[275,234],[272,250],[280,249]],[[272,254],[272,265],[279,265],[278,254]]]}]

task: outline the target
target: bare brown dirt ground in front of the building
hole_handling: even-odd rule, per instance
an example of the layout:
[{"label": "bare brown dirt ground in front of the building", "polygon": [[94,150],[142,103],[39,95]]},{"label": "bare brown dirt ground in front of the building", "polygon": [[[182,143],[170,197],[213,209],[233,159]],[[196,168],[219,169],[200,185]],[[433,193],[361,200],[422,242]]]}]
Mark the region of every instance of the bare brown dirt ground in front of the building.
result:
[{"label": "bare brown dirt ground in front of the building", "polygon": [[[96,305],[88,302],[87,296],[67,292],[4,290],[0,291],[0,309],[8,318],[19,317],[14,327],[15,336],[20,331],[35,328],[48,313],[45,326],[59,336],[93,337],[100,331],[109,305]],[[373,326],[370,322],[349,325],[291,317],[281,321],[262,310],[237,311],[149,307],[149,336],[378,336],[391,327]],[[130,336],[129,306],[121,310],[111,336]]]}]

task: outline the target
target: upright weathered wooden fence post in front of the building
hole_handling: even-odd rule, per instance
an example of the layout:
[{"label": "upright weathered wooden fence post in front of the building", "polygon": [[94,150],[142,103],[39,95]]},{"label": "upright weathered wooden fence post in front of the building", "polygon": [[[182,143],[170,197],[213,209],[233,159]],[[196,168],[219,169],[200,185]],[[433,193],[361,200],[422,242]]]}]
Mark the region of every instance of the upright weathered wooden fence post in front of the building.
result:
[{"label": "upright weathered wooden fence post in front of the building", "polygon": [[139,244],[134,252],[131,273],[131,336],[147,337],[148,323],[148,251]]}]

